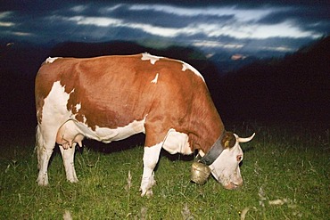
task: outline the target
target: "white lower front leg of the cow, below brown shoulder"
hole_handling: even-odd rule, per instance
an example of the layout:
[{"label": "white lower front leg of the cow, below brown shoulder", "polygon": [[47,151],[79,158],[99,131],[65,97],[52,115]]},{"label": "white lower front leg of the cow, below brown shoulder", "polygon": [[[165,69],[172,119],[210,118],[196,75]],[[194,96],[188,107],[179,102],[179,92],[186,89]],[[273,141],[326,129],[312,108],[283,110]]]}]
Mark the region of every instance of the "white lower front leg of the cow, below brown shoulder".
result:
[{"label": "white lower front leg of the cow, below brown shoulder", "polygon": [[156,167],[158,160],[160,158],[162,143],[158,143],[152,147],[144,147],[144,174],[142,175],[142,182],[140,191],[142,191],[141,196],[152,196],[153,195],[153,185],[156,183],[154,181],[153,169]]}]

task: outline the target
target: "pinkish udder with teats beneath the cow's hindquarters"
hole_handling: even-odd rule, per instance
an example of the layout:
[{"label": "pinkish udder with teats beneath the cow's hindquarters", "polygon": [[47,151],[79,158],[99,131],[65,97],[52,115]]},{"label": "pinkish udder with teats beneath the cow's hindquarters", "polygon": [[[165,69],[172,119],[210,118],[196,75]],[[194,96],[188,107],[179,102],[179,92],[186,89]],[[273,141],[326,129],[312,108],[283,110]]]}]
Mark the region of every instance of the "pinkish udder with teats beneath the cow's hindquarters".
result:
[{"label": "pinkish udder with teats beneath the cow's hindquarters", "polygon": [[65,122],[57,131],[56,143],[62,145],[63,149],[75,147],[77,144],[82,147],[84,135],[81,134],[73,120]]}]

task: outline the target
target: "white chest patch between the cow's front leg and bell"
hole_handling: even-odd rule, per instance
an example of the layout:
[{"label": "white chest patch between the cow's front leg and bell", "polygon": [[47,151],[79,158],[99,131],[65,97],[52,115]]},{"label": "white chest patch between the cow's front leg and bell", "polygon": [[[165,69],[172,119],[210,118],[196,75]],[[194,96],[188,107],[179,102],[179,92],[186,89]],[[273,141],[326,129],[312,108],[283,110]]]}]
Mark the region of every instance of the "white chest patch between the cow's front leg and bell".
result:
[{"label": "white chest patch between the cow's front leg and bell", "polygon": [[189,147],[189,137],[185,133],[177,132],[175,129],[170,128],[168,134],[164,139],[162,148],[171,154],[182,153],[192,154],[193,151]]}]

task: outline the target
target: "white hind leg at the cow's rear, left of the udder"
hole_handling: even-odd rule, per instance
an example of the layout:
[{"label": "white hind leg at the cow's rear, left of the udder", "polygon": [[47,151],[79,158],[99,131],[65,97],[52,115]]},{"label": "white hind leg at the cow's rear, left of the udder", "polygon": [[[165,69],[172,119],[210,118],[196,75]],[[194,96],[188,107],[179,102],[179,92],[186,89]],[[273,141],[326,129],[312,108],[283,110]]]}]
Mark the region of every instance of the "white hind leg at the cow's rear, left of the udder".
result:
[{"label": "white hind leg at the cow's rear, left of the udder", "polygon": [[[39,169],[39,174],[37,176],[37,183],[39,185],[48,184],[48,163],[52,156],[55,147],[55,135],[47,134],[42,131],[40,126],[37,126],[36,131],[36,150],[37,150],[37,168]],[[52,138],[53,137],[53,138]]]}]

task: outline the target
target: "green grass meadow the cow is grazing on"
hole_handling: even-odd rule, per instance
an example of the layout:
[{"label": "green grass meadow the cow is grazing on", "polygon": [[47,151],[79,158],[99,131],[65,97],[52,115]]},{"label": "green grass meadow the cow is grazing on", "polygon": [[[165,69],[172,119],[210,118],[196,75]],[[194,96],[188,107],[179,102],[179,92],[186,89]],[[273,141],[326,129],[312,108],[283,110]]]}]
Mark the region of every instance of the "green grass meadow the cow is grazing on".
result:
[{"label": "green grass meadow the cow is grazing on", "polygon": [[[330,211],[329,130],[304,126],[232,127],[257,133],[242,144],[244,184],[227,191],[212,178],[190,183],[192,161],[162,153],[152,198],[141,198],[143,147],[77,151],[78,183],[68,183],[60,154],[46,187],[37,186],[33,134],[1,142],[2,219],[326,219]],[[111,144],[108,146],[111,148]]]}]

